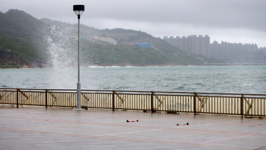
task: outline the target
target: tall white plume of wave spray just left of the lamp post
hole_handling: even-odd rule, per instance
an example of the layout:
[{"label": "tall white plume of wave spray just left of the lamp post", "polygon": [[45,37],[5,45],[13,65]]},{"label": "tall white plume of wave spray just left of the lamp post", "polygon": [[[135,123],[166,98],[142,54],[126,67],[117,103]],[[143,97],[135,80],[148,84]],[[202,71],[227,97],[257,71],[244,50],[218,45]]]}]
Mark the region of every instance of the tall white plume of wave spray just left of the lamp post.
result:
[{"label": "tall white plume of wave spray just left of the lamp post", "polygon": [[[50,66],[52,67],[51,87],[55,89],[75,89],[76,88],[76,71],[75,65],[77,51],[74,50],[76,41],[69,41],[66,35],[69,34],[64,24],[56,25],[52,21],[45,21],[45,47],[50,56]],[[61,26],[60,26],[61,25]]]}]

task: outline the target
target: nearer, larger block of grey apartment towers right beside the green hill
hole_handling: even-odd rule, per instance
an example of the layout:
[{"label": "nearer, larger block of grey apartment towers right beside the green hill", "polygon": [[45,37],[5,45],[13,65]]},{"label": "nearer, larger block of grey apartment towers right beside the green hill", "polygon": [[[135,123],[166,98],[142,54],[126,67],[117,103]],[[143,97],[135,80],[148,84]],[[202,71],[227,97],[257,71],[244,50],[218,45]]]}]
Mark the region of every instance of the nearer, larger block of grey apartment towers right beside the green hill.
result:
[{"label": "nearer, larger block of grey apartment towers right beside the green hill", "polygon": [[181,50],[188,54],[202,54],[204,56],[210,57],[210,37],[209,35],[189,35],[188,37],[182,36],[181,38],[177,36],[174,38],[164,37],[163,40],[170,43],[173,46],[179,47]]}]

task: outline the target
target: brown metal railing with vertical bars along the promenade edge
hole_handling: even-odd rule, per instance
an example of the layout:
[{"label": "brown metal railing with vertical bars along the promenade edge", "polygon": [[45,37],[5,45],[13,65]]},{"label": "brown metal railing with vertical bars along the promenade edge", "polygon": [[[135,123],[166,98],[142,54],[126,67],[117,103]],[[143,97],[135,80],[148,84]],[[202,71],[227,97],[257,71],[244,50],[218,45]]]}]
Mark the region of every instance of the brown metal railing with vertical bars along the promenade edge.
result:
[{"label": "brown metal railing with vertical bars along the promenade edge", "polygon": [[[0,104],[77,107],[76,90],[0,88]],[[81,105],[111,110],[144,110],[266,116],[266,94],[174,91],[81,90]]]}]

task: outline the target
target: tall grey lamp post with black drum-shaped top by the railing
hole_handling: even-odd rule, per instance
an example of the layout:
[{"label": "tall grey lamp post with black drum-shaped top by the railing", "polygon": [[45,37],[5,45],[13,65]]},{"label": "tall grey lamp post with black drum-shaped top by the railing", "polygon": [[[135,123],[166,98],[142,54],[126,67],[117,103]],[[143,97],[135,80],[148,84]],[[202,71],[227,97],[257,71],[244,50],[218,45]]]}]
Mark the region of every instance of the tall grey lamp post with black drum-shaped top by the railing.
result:
[{"label": "tall grey lamp post with black drum-shaped top by the railing", "polygon": [[78,16],[78,83],[77,83],[77,110],[81,109],[81,85],[80,85],[80,16],[84,11],[84,5],[73,5],[73,11]]}]

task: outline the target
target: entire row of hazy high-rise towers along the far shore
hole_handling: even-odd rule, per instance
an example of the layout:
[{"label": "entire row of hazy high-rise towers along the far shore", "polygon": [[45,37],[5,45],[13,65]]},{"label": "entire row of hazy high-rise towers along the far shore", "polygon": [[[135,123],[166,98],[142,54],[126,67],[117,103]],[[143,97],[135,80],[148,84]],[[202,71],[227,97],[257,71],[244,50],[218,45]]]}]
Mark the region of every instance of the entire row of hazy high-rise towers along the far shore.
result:
[{"label": "entire row of hazy high-rise towers along the far shore", "polygon": [[209,35],[164,36],[163,40],[187,54],[202,54],[232,63],[266,60],[266,48],[259,48],[256,43],[218,43],[216,40],[210,43]]}]

